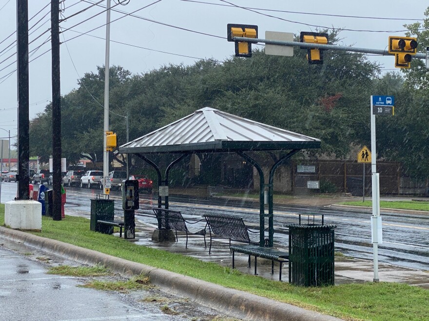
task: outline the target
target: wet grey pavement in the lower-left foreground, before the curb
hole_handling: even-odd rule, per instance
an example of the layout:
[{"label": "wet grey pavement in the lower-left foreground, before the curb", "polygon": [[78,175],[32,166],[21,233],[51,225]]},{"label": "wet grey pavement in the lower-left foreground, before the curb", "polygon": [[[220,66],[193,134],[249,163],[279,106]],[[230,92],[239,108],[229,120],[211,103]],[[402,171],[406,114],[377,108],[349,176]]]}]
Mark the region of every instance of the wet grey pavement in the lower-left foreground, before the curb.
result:
[{"label": "wet grey pavement in the lower-left foreground, before the curb", "polygon": [[[0,320],[179,321],[223,317],[157,288],[119,293],[79,286],[94,280],[124,281],[117,275],[92,278],[46,273],[48,267],[58,265],[79,266],[0,237]],[[166,305],[175,315],[163,312]]]}]

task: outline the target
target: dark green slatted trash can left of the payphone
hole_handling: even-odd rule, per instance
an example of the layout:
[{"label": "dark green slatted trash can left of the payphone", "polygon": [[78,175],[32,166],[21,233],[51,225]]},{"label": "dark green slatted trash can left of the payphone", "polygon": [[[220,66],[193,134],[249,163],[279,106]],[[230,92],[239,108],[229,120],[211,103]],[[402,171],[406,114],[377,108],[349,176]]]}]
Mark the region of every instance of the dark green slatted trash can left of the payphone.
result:
[{"label": "dark green slatted trash can left of the payphone", "polygon": [[113,226],[97,224],[97,220],[113,220],[115,201],[113,199],[91,199],[90,230],[104,234],[113,234]]}]

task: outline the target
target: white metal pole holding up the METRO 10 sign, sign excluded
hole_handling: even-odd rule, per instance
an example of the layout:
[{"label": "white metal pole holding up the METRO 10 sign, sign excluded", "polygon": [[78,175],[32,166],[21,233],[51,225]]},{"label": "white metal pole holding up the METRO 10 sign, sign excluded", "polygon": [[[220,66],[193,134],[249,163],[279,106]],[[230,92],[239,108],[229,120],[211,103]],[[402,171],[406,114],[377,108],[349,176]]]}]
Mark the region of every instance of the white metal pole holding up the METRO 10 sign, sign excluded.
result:
[{"label": "white metal pole holding up the METRO 10 sign, sign excluded", "polygon": [[374,282],[379,282],[378,278],[378,228],[377,219],[380,214],[379,210],[379,185],[376,169],[377,151],[375,147],[375,115],[372,112],[372,96],[370,97],[371,113],[371,182],[372,182],[372,247],[373,247],[373,265],[374,265]]}]

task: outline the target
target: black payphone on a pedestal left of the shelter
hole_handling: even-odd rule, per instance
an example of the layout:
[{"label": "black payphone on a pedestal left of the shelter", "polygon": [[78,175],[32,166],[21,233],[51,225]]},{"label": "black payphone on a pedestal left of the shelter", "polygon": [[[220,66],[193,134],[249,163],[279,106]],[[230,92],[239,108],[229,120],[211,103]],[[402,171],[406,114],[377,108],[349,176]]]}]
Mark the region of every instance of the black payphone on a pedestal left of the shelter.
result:
[{"label": "black payphone on a pedestal left of the shelter", "polygon": [[122,209],[124,210],[124,238],[135,238],[134,211],[138,210],[138,181],[127,179],[122,185]]}]

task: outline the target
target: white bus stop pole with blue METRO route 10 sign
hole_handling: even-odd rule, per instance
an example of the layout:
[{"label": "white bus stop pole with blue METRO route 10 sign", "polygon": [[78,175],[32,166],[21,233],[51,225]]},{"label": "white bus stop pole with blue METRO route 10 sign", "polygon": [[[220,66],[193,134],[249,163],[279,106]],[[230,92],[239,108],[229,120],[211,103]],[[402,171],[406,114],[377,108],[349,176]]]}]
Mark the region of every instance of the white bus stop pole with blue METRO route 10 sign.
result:
[{"label": "white bus stop pole with blue METRO route 10 sign", "polygon": [[377,152],[375,148],[375,115],[394,115],[395,98],[393,96],[371,96],[371,178],[372,178],[372,217],[371,234],[374,256],[374,282],[379,282],[378,278],[378,244],[383,243],[381,216],[380,216],[380,185],[379,174],[376,170],[375,160]]}]

